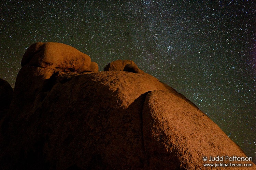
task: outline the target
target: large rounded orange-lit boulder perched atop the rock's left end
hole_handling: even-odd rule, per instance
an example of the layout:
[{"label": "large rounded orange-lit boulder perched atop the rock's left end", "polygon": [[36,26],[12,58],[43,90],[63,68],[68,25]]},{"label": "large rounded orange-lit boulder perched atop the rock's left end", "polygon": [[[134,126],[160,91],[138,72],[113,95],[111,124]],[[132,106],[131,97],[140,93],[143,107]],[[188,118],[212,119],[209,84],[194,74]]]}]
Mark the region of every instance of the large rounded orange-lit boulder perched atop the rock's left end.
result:
[{"label": "large rounded orange-lit boulder perched atop the rock's left end", "polygon": [[91,71],[91,58],[88,55],[74,47],[52,42],[31,45],[25,52],[21,64],[57,71]]}]

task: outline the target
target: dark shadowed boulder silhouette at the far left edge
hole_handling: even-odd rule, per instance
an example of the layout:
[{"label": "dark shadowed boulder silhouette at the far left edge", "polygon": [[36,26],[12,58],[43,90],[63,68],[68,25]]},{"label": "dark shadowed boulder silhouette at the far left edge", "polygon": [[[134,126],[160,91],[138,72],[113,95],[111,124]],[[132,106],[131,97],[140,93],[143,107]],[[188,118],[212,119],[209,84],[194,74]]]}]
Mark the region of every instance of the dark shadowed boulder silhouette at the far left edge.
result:
[{"label": "dark shadowed boulder silhouette at the far left edge", "polygon": [[10,106],[13,97],[11,85],[3,79],[0,79],[0,111]]}]

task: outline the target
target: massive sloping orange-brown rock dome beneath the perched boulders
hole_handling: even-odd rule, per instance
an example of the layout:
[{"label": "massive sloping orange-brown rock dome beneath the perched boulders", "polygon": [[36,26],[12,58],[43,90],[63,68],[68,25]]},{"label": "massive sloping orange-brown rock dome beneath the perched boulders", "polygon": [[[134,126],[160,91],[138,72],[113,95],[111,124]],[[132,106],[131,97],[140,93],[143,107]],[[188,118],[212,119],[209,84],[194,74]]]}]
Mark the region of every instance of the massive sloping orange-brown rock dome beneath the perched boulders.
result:
[{"label": "massive sloping orange-brown rock dome beneath the perched boulders", "polygon": [[0,169],[194,170],[212,169],[204,156],[246,157],[197,106],[149,74],[52,69],[23,65],[18,74],[0,121]]}]

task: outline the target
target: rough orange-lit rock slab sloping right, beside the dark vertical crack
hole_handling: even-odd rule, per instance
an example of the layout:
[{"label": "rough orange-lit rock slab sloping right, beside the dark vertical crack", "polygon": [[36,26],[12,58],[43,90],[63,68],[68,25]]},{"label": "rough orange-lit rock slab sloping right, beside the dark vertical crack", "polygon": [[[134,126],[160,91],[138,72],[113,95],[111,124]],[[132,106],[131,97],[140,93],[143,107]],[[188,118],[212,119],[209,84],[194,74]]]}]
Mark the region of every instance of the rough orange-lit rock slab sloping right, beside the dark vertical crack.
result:
[{"label": "rough orange-lit rock slab sloping right, beside the dark vertical crack", "polygon": [[220,162],[203,161],[203,157],[209,160],[210,156],[224,156],[221,163],[225,164],[241,164],[241,161],[225,161],[225,156],[247,157],[208,116],[184,99],[162,90],[146,96],[143,137],[152,169],[159,165],[160,169],[211,169],[203,164]]}]

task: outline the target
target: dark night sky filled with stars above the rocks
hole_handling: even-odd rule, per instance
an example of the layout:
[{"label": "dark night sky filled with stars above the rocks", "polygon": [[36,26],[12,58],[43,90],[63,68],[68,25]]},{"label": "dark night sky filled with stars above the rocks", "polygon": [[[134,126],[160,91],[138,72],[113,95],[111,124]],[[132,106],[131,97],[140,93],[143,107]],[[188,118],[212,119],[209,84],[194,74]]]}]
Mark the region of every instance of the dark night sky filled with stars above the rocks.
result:
[{"label": "dark night sky filled with stars above the rocks", "polygon": [[75,47],[99,71],[133,60],[194,102],[255,162],[255,0],[3,0],[0,19],[0,78],[12,87],[37,42]]}]

